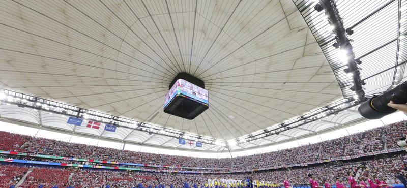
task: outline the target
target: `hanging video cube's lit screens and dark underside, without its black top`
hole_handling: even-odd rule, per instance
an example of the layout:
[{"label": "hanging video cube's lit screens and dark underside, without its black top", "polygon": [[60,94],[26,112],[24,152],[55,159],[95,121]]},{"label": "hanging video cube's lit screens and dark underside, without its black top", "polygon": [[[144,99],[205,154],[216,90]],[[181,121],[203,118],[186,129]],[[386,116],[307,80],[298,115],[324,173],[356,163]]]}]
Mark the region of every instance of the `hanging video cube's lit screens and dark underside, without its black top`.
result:
[{"label": "hanging video cube's lit screens and dark underside, without its black top", "polygon": [[184,79],[178,79],[165,96],[164,112],[167,114],[194,119],[208,108],[208,90]]}]

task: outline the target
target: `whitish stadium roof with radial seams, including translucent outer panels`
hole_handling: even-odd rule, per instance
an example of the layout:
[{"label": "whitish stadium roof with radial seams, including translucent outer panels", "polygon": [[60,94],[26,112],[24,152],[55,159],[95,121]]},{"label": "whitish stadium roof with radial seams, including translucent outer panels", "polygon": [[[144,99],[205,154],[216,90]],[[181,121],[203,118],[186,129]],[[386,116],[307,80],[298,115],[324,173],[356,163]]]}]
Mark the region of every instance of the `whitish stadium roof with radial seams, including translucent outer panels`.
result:
[{"label": "whitish stadium roof with radial seams, including translucent outer panels", "polygon": [[[363,19],[372,11],[366,15],[356,14],[360,11],[356,8],[346,12],[348,4],[341,2],[338,9],[347,17],[355,16],[349,21],[352,24],[371,21]],[[4,1],[0,7],[0,88],[216,140],[243,138],[346,101],[343,95],[348,97],[350,90],[344,88],[348,89],[352,82],[344,81],[346,75],[331,68],[336,68],[328,51],[332,49],[320,46],[331,36],[315,32],[328,22],[323,26],[315,22],[313,30],[307,25],[317,19],[306,15],[315,3]],[[393,3],[397,5],[397,1],[390,1],[386,6],[392,8]],[[369,10],[381,6],[372,4]],[[397,9],[393,13],[390,8],[384,9],[389,19],[397,18]],[[357,32],[356,27],[355,37]],[[327,42],[329,46],[331,43]],[[396,45],[382,47],[397,52]],[[371,50],[365,48],[356,50],[359,55]],[[405,51],[405,45],[400,49]],[[399,57],[399,62],[404,71],[405,55]],[[370,84],[368,95],[392,85],[392,78],[387,81],[374,75],[388,69],[386,75],[391,76],[395,68],[391,69],[390,64],[394,65],[394,61],[389,60],[389,66],[383,69],[377,65],[377,69],[366,68],[369,78],[380,82],[377,88],[372,87],[374,81],[366,80],[366,86]],[[182,72],[204,81],[209,92],[209,109],[194,120],[163,112],[168,86]],[[402,73],[398,75],[400,81],[403,78]],[[212,144],[203,144],[202,148],[180,145],[177,138],[127,127],[119,127],[114,133],[76,128],[67,124],[68,117],[61,114],[6,103],[0,106],[3,121],[28,127],[160,147],[224,149]],[[295,140],[364,120],[354,106],[230,149]]]}]

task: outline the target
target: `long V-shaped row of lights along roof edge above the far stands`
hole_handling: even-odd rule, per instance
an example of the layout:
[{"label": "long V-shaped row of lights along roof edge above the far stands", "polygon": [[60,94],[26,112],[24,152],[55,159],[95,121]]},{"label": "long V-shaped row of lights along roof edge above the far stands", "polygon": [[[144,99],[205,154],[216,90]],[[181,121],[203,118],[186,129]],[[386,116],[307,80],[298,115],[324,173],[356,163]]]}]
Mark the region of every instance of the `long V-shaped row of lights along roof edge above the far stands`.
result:
[{"label": "long V-shaped row of lights along roof edge above the far stands", "polygon": [[153,126],[151,124],[147,123],[142,123],[142,122],[137,122],[134,120],[118,117],[118,116],[112,116],[100,112],[95,112],[91,110],[86,110],[82,108],[77,108],[74,106],[62,104],[62,103],[57,103],[33,96],[28,96],[24,95],[22,93],[6,90],[6,89],[0,89],[0,105],[3,103],[7,103],[7,105],[13,104],[17,105],[18,107],[21,108],[30,108],[35,111],[44,111],[44,112],[49,112],[50,114],[55,113],[55,114],[61,114],[61,115],[66,115],[66,116],[71,116],[71,117],[77,117],[77,118],[82,118],[84,120],[91,120],[91,121],[96,121],[96,122],[101,122],[101,123],[106,123],[106,124],[111,124],[117,127],[123,127],[126,129],[131,129],[131,130],[137,130],[137,131],[142,131],[146,132],[149,134],[157,134],[157,135],[163,135],[167,137],[172,137],[176,139],[185,139],[185,140],[191,140],[191,141],[196,141],[196,142],[201,142],[201,143],[206,143],[206,144],[212,144],[212,145],[217,145],[220,147],[233,147],[235,145],[251,142],[257,139],[261,139],[264,137],[268,137],[273,134],[279,134],[281,132],[284,132],[286,130],[294,129],[296,127],[303,126],[304,124],[310,123],[312,121],[317,121],[321,120],[322,118],[328,117],[333,114],[337,114],[340,111],[346,110],[348,108],[352,108],[359,103],[353,100],[349,99],[342,99],[340,101],[337,101],[335,103],[332,103],[326,107],[317,109],[313,112],[310,112],[306,115],[303,115],[301,117],[295,118],[293,120],[284,122],[282,124],[278,124],[277,126],[262,130],[259,132],[256,132],[254,134],[250,134],[245,137],[241,137],[238,139],[231,139],[228,141],[223,141],[223,140],[216,140],[213,138],[209,137],[204,137],[204,136],[199,136],[199,135],[194,135],[190,133],[185,133],[181,131],[176,131],[172,129],[167,129],[159,126]]}]

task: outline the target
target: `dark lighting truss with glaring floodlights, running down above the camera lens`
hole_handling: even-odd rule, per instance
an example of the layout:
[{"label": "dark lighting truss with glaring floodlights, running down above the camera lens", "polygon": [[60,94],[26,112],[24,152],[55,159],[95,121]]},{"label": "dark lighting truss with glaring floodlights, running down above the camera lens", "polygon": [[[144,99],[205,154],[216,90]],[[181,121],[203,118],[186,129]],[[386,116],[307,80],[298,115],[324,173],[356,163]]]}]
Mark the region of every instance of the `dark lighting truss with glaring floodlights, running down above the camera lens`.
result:
[{"label": "dark lighting truss with glaring floodlights, running down above the camera lens", "polygon": [[336,40],[332,46],[336,49],[340,49],[338,56],[342,63],[347,66],[343,71],[350,76],[353,82],[351,90],[355,93],[354,98],[359,102],[366,101],[367,98],[365,98],[365,91],[363,90],[365,82],[361,80],[360,69],[358,68],[358,65],[360,65],[362,61],[355,59],[351,44],[353,40],[348,39],[348,36],[354,33],[353,30],[350,28],[345,29],[342,18],[339,16],[338,9],[333,0],[319,0],[319,3],[315,5],[314,9],[317,12],[325,10],[325,18],[328,20]]}]

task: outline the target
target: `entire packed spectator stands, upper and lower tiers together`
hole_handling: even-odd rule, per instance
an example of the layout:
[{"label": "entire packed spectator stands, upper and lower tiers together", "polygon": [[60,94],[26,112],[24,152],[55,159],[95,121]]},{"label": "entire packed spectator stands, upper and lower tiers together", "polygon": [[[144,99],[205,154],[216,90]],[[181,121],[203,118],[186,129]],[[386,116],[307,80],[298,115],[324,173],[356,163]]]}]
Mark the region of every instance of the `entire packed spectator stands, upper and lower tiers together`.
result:
[{"label": "entire packed spectator stands, upper and lower tiers together", "polygon": [[[0,132],[4,139],[0,140],[0,150],[14,152],[26,152],[35,154],[71,156],[75,158],[108,160],[117,162],[142,163],[150,165],[171,165],[185,167],[206,167],[206,168],[231,168],[232,170],[258,169],[263,167],[273,167],[277,165],[289,165],[293,163],[307,163],[315,160],[322,160],[337,156],[355,155],[366,152],[380,151],[383,149],[397,148],[396,142],[402,135],[407,133],[406,121],[401,121],[387,126],[371,129],[365,132],[347,135],[338,139],[325,141],[323,143],[305,144],[299,147],[283,149],[273,152],[254,154],[249,156],[239,156],[236,158],[191,158],[187,156],[164,155],[155,153],[145,153],[137,151],[119,150],[106,147],[98,147],[84,144],[67,143],[63,141],[36,138],[31,136]],[[64,162],[62,160],[34,158],[24,156],[24,160],[42,160],[50,162]],[[307,184],[306,174],[314,173],[316,178],[328,179],[334,182],[335,177],[345,177],[347,170],[362,169],[361,175],[376,174],[384,180],[394,180],[394,172],[403,171],[405,156],[397,155],[392,158],[379,160],[369,160],[357,164],[319,165],[313,168],[285,169],[277,171],[260,171],[251,174],[253,179],[282,181],[284,177],[289,177],[291,183]],[[65,161],[65,163],[81,163],[77,161]],[[109,164],[113,165],[113,164]],[[14,165],[0,166],[0,183],[12,185],[18,182],[27,172],[28,167]],[[232,178],[245,179],[246,173],[234,174],[181,174],[181,173],[141,173],[133,171],[96,171],[96,170],[72,170],[72,169],[46,169],[35,168],[28,174],[20,187],[38,187],[40,183],[51,186],[53,184],[60,187],[68,183],[70,174],[73,173],[71,185],[75,187],[102,186],[107,182],[117,187],[133,187],[137,183],[143,185],[153,184],[174,184],[182,187],[184,182],[199,183],[211,178]],[[303,174],[304,176],[298,176]],[[58,178],[56,178],[58,177]]]}]

